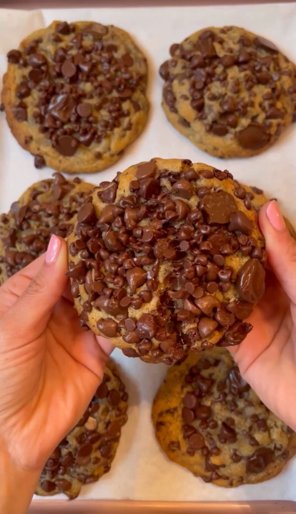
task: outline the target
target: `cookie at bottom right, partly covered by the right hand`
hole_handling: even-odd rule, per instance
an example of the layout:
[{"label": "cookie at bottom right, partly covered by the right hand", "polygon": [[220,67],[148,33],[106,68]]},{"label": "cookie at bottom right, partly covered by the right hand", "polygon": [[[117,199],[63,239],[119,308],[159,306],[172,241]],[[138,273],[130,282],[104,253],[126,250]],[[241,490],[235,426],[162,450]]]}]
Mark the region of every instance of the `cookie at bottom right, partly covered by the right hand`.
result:
[{"label": "cookie at bottom right, partly covered by the right hand", "polygon": [[222,487],[269,480],[296,451],[295,433],[263,405],[224,348],[190,352],[172,366],[152,419],[171,461]]}]

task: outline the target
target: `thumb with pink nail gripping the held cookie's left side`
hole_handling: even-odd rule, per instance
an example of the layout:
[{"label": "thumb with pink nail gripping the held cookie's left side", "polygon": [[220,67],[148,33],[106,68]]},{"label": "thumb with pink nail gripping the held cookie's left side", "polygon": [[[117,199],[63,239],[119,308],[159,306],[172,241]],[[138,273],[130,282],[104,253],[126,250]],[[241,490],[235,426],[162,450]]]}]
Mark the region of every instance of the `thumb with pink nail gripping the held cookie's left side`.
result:
[{"label": "thumb with pink nail gripping the held cookie's left side", "polygon": [[53,306],[66,288],[66,271],[66,242],[62,237],[52,235],[42,267],[9,310],[14,323],[17,323],[18,336],[31,330],[34,337],[38,337],[36,331],[41,333],[44,330]]}]

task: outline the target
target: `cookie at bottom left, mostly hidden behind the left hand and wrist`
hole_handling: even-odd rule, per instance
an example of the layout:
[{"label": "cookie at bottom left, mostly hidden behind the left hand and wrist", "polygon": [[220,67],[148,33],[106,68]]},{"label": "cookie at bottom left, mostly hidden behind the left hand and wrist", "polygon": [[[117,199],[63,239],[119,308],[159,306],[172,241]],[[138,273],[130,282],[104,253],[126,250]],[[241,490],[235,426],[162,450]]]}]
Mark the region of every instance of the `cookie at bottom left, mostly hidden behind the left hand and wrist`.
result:
[{"label": "cookie at bottom left, mostly hidden behind the left hand and wrist", "polygon": [[49,457],[36,494],[59,492],[77,498],[82,484],[97,482],[110,470],[127,421],[128,394],[113,361],[109,360],[101,385],[85,414]]}]

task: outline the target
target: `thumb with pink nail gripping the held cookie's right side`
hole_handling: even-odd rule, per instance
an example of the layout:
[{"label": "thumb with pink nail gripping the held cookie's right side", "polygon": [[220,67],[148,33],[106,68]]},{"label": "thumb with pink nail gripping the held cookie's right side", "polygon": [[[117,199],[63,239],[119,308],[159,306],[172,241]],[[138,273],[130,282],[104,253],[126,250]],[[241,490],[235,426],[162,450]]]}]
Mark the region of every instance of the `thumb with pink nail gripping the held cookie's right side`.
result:
[{"label": "thumb with pink nail gripping the held cookie's right side", "polygon": [[272,271],[290,300],[296,304],[296,242],[275,200],[261,208],[259,224],[265,237],[267,258]]}]

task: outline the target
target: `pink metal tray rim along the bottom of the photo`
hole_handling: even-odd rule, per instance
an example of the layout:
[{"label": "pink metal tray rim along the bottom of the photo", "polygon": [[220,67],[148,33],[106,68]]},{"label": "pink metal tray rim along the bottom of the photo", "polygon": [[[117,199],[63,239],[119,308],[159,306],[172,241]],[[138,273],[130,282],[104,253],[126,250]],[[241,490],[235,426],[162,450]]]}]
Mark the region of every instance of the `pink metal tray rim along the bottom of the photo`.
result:
[{"label": "pink metal tray rim along the bottom of the photo", "polygon": [[131,500],[33,501],[28,514],[294,514],[296,502],[144,502]]}]

